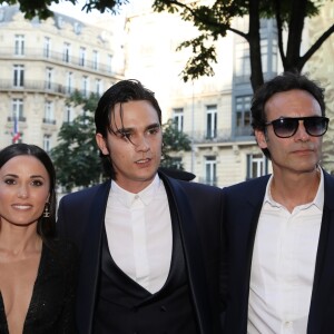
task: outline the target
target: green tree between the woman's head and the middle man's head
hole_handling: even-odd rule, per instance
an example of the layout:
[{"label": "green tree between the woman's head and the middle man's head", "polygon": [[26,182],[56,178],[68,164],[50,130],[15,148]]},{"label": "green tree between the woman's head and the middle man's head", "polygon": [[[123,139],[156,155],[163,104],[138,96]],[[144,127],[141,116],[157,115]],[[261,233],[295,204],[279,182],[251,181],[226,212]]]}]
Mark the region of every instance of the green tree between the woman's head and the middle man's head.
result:
[{"label": "green tree between the woman's head and the middle man's head", "polygon": [[58,184],[67,191],[88,187],[101,179],[102,167],[95,140],[94,110],[97,95],[84,98],[76,91],[68,104],[82,106],[82,114],[71,122],[63,122],[58,134],[58,145],[51,149]]}]

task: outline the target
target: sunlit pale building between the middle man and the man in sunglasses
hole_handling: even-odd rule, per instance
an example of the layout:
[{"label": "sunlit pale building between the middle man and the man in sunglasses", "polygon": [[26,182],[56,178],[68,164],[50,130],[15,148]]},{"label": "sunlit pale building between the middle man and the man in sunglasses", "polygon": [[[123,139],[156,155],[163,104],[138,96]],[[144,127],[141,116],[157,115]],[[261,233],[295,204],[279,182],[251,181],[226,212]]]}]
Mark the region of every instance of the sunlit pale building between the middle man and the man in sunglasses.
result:
[{"label": "sunlit pale building between the middle man and the man in sunglasses", "polygon": [[[247,20],[234,22],[246,31]],[[166,29],[168,27],[168,29]],[[126,77],[136,77],[153,89],[164,121],[175,119],[191,139],[191,151],[175,153],[196,181],[219,187],[267,174],[269,163],[258,149],[250,127],[248,45],[234,33],[216,42],[213,77],[184,82],[180,76],[189,50],[176,51],[180,42],[198,35],[176,14],[156,13],[151,4],[134,6],[127,17]],[[266,78],[278,71],[276,30],[262,22],[263,67]]]}]

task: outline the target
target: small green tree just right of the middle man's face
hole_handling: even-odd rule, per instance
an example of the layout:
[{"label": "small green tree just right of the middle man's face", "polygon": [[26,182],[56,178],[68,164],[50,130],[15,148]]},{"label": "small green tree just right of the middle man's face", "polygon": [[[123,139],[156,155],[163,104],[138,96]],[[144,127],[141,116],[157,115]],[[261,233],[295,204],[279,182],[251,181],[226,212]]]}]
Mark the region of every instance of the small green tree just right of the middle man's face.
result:
[{"label": "small green tree just right of the middle man's face", "polygon": [[163,125],[163,134],[164,146],[161,167],[184,170],[183,164],[176,161],[175,157],[173,157],[173,153],[191,150],[189,137],[177,129],[173,119],[168,119],[167,122]]}]

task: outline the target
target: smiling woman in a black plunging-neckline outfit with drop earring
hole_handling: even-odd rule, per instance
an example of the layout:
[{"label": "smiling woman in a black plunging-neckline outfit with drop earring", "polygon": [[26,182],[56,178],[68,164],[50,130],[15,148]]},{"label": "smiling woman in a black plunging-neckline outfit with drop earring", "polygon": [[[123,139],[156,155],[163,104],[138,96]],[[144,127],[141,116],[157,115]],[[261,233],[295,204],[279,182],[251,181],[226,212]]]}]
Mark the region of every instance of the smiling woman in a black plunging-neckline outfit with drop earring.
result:
[{"label": "smiling woman in a black plunging-neckline outfit with drop earring", "polygon": [[55,168],[41,148],[0,151],[0,333],[76,333],[77,250],[56,238]]}]

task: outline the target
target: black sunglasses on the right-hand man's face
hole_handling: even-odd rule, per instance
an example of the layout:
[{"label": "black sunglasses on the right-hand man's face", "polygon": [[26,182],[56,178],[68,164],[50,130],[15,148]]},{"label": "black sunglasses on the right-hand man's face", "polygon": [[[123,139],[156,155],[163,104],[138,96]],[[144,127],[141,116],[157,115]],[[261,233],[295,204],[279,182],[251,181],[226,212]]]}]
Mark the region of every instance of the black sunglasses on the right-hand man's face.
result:
[{"label": "black sunglasses on the right-hand man's face", "polygon": [[265,126],[272,125],[274,132],[279,138],[288,138],[295,135],[298,129],[299,120],[303,120],[306,132],[312,137],[321,137],[325,135],[330,119],[327,117],[281,117],[268,121]]}]

